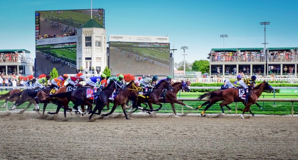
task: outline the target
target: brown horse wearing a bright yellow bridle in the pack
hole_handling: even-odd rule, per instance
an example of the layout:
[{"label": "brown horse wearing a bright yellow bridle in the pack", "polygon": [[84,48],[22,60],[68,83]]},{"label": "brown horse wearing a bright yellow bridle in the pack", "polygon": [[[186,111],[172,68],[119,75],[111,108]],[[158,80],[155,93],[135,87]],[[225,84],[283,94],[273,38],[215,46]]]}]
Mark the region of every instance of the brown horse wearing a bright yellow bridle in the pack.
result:
[{"label": "brown horse wearing a bright yellow bridle in the pack", "polygon": [[[123,113],[125,115],[126,119],[129,119],[127,117],[126,111],[125,111],[125,103],[127,102],[127,100],[132,100],[133,106],[136,105],[136,102],[138,100],[138,91],[139,91],[139,85],[136,84],[134,81],[131,81],[129,84],[127,84],[126,86],[126,90],[121,90],[119,91],[119,93],[117,94],[117,96],[114,98],[114,100],[108,99],[108,103],[107,106],[109,108],[109,103],[114,103],[112,110],[110,111],[110,113],[106,113],[103,114],[102,116],[108,116],[110,114],[112,114],[115,109],[121,105]],[[104,106],[103,106],[104,107]]]}]

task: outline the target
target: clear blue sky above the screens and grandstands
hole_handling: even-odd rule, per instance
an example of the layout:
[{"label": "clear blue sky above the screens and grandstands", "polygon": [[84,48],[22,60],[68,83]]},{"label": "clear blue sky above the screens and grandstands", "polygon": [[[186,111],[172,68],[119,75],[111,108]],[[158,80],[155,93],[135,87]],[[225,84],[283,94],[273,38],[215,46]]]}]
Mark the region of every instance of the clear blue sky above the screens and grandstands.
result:
[{"label": "clear blue sky above the screens and grandstands", "polygon": [[[181,46],[188,46],[189,62],[206,59],[211,48],[223,48],[221,34],[228,34],[225,48],[298,47],[297,1],[95,1],[105,9],[107,35],[146,35],[170,38],[175,62],[183,60]],[[0,49],[35,52],[35,10],[88,9],[89,0],[1,1]]]}]

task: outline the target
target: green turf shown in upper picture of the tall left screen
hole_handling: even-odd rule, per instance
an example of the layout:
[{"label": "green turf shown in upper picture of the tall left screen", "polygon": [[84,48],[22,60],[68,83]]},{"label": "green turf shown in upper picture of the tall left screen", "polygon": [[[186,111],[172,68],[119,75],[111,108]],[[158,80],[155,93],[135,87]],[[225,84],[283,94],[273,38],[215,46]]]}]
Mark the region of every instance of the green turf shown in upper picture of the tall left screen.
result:
[{"label": "green turf shown in upper picture of the tall left screen", "polygon": [[[44,15],[43,15],[43,14]],[[48,20],[53,20],[55,22],[58,21],[57,18],[52,16],[58,17],[59,18],[59,23],[65,24],[65,25],[69,25],[75,28],[80,27],[80,24],[84,24],[86,23],[88,20],[91,19],[91,15],[90,14],[85,14],[85,13],[78,13],[78,12],[73,12],[73,11],[63,11],[63,14],[57,14],[56,11],[50,12],[50,11],[43,11],[41,12],[41,18],[46,18]],[[68,19],[68,16],[71,16],[71,19]],[[94,20],[96,20],[97,23],[99,23],[100,25],[103,26],[103,16],[101,15],[101,20],[98,20],[98,17],[95,19],[95,16],[92,16]],[[69,23],[68,21],[64,22],[64,19],[68,20],[68,21],[73,21],[76,23]]]}]

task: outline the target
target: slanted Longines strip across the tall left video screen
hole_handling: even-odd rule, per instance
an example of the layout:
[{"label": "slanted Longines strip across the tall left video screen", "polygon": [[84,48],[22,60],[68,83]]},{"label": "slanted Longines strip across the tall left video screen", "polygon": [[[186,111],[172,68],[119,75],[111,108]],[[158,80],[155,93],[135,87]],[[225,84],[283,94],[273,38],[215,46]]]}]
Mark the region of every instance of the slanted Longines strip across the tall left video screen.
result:
[{"label": "slanted Longines strip across the tall left video screen", "polygon": [[71,42],[77,42],[77,36],[38,39],[37,45],[39,46],[39,45],[46,45],[46,44],[59,44],[59,43],[71,43]]}]

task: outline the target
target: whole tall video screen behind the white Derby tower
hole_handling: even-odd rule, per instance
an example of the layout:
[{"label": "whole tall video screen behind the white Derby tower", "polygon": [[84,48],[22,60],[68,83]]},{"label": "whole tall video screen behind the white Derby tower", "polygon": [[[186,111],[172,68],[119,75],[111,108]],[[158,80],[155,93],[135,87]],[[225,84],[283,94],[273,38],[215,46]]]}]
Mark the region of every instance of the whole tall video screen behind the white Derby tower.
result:
[{"label": "whole tall video screen behind the white Derby tower", "polygon": [[[75,73],[77,28],[90,19],[91,9],[35,11],[37,74]],[[92,9],[92,19],[105,27],[105,10]]]}]

